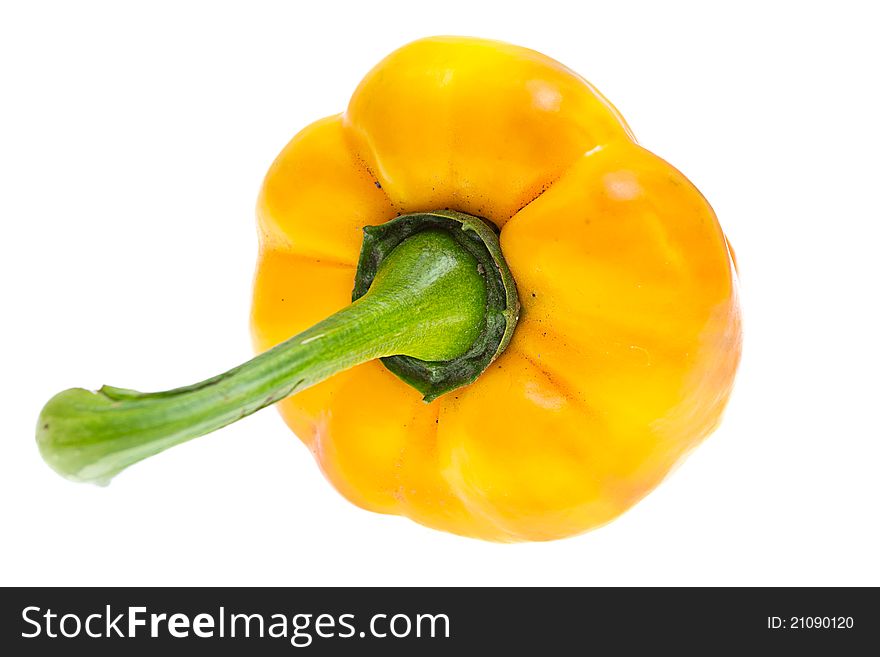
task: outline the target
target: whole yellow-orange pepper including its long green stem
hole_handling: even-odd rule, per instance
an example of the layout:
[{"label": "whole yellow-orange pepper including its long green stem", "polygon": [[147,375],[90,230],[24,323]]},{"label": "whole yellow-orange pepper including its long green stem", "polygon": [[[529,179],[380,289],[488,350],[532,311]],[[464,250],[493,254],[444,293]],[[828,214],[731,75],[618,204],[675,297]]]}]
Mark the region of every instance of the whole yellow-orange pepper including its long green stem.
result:
[{"label": "whole yellow-orange pepper including its long green stem", "polygon": [[548,540],[631,507],[728,400],[740,310],[712,208],[534,51],[397,50],[284,148],[257,216],[261,355],[165,393],[60,393],[53,467],[103,482],[277,401],[355,504]]}]

